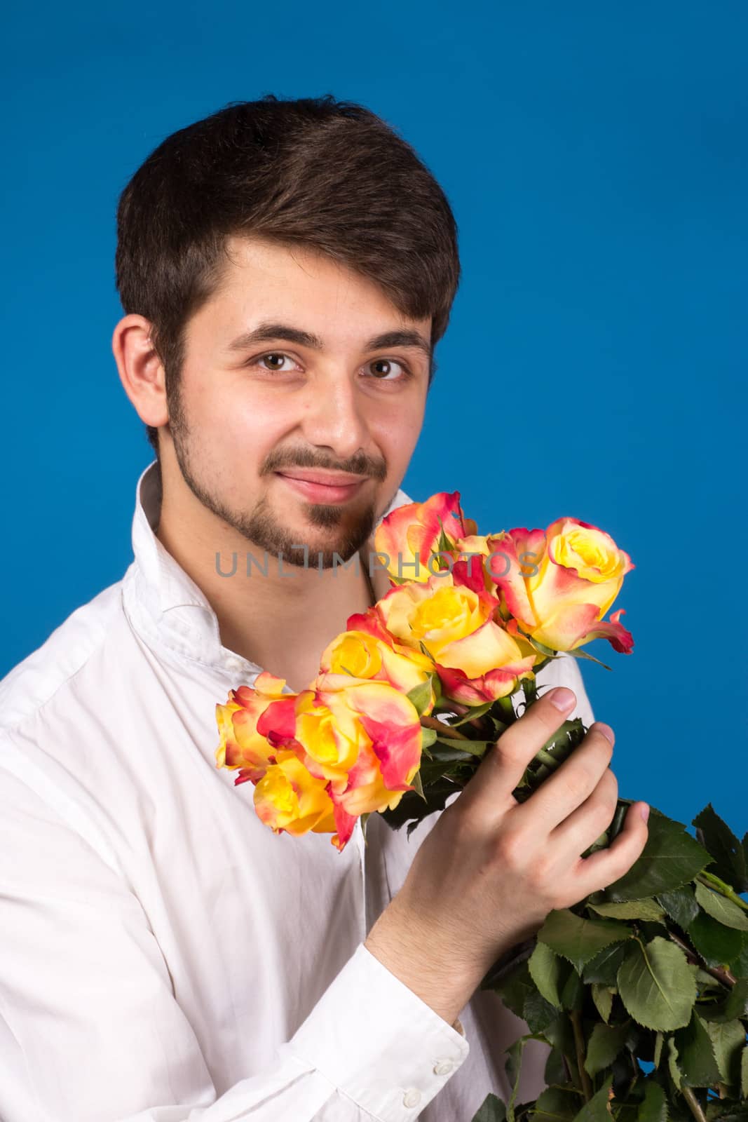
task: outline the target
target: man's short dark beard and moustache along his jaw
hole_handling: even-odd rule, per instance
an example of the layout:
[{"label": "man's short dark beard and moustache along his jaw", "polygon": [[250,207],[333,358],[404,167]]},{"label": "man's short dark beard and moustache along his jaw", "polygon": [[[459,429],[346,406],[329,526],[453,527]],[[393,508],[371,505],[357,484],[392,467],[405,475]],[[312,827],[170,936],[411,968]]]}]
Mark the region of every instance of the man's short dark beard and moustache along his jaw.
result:
[{"label": "man's short dark beard and moustache along his jaw", "polygon": [[[191,457],[193,442],[190,439],[190,429],[178,385],[170,393],[167,390],[167,403],[169,411],[167,429],[185,484],[204,507],[230,525],[252,545],[273,557],[281,558],[284,564],[323,570],[349,561],[371,536],[378,521],[378,511],[373,499],[359,511],[351,511],[339,504],[305,503],[306,522],[310,526],[318,527],[320,533],[314,534],[307,531],[305,534],[307,540],[304,542],[298,541],[299,532],[289,530],[279,514],[274,511],[267,495],[264,495],[255,504],[251,512],[231,509],[220,495],[197,478],[193,468]],[[286,469],[292,466],[324,467],[355,475],[369,475],[379,479],[384,479],[387,473],[386,465],[382,461],[372,461],[362,454],[352,457],[345,467],[320,463],[312,458],[313,454],[311,450],[299,450],[294,456],[293,465],[288,462],[287,456],[280,462],[278,454],[271,454],[261,468],[260,475],[271,475],[278,466]],[[394,495],[389,502],[393,497]],[[293,502],[289,498],[289,505]],[[368,559],[366,563],[368,571]]]}]

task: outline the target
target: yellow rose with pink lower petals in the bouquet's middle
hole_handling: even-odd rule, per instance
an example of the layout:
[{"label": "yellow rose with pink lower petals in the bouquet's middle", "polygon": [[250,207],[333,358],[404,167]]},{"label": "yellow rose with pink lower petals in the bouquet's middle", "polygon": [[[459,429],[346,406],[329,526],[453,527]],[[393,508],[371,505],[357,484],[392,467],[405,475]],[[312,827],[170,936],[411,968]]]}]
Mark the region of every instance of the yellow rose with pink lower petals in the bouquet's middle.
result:
[{"label": "yellow rose with pink lower petals in the bouquet's middle", "polygon": [[521,636],[496,622],[498,604],[480,569],[469,574],[461,561],[451,573],[391,588],[369,613],[395,642],[414,650],[423,644],[447,697],[477,705],[511,693],[519,679],[533,677],[537,661]]}]

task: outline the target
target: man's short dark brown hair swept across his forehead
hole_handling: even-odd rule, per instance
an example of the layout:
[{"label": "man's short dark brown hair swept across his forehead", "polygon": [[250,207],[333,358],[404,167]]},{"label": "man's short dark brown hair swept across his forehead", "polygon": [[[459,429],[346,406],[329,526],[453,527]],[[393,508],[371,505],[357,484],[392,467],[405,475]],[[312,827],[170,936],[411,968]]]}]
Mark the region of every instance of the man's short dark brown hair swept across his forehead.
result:
[{"label": "man's short dark brown hair swept across his forehead", "polygon": [[[321,98],[238,101],[166,137],[122,191],[116,285],[151,324],[167,395],[185,327],[223,275],[230,236],[326,254],[410,319],[446,330],[460,282],[458,228],[414,148],[363,105]],[[432,360],[428,385],[436,369]],[[158,430],[146,425],[158,457]]]}]

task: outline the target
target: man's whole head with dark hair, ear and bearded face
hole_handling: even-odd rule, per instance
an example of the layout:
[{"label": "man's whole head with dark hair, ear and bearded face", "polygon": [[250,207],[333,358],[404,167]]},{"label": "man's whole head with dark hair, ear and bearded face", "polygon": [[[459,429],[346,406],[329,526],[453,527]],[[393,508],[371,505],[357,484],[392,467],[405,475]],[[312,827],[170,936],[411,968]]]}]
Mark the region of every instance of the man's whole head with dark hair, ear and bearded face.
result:
[{"label": "man's whole head with dark hair, ear and bearded face", "polygon": [[230,104],[132,176],[116,268],[113,350],[163,475],[290,563],[351,557],[407,469],[460,277],[410,146],[331,95]]}]

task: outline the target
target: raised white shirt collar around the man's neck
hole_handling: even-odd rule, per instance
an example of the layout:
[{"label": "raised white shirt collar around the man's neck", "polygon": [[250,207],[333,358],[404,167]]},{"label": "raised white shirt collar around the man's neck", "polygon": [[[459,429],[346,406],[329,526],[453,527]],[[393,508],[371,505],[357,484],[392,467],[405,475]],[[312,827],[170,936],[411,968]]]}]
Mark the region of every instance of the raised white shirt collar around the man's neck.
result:
[{"label": "raised white shirt collar around the man's neck", "polygon": [[[398,489],[381,517],[410,502],[405,491]],[[122,581],[122,597],[130,620],[147,638],[190,661],[218,670],[259,672],[262,668],[257,663],[222,645],[218,616],[204,592],[156,536],[160,508],[160,471],[158,462],[153,460],[140,473],[136,486],[132,517],[135,560]],[[373,549],[372,533],[361,548],[362,564],[368,563],[368,553]],[[390,587],[387,572],[376,569],[371,581],[377,598],[381,599]]]}]

